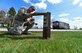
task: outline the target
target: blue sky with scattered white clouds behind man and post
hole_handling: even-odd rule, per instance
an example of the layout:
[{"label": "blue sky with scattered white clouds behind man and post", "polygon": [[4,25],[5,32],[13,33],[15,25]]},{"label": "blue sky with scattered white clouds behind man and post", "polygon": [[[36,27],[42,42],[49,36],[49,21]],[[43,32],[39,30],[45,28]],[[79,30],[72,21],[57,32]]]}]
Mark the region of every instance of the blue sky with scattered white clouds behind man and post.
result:
[{"label": "blue sky with scattered white clouds behind man and post", "polygon": [[[0,10],[9,10],[14,7],[16,11],[21,6],[34,5],[36,11],[51,12],[52,21],[62,21],[70,24],[71,29],[75,26],[82,28],[82,0],[1,0]],[[42,26],[42,16],[34,17],[38,26]]]}]

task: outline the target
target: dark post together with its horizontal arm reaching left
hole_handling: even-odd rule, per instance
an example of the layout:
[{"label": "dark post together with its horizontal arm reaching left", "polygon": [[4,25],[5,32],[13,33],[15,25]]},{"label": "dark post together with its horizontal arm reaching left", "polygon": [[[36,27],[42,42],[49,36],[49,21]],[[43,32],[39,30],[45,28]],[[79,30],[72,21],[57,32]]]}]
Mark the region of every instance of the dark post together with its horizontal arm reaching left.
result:
[{"label": "dark post together with its horizontal arm reaching left", "polygon": [[43,15],[43,38],[50,38],[51,28],[51,13],[50,12],[35,12],[33,16]]}]

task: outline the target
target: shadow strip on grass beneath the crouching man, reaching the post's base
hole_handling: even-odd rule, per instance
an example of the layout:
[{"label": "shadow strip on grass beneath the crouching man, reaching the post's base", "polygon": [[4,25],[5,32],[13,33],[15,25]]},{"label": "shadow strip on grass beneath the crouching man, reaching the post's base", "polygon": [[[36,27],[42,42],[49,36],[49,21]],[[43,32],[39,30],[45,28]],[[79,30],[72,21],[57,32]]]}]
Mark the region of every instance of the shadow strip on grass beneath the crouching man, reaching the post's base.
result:
[{"label": "shadow strip on grass beneath the crouching man, reaching the post's base", "polygon": [[44,39],[42,35],[31,34],[31,35],[11,35],[7,32],[0,32],[0,38],[11,38],[11,39]]}]

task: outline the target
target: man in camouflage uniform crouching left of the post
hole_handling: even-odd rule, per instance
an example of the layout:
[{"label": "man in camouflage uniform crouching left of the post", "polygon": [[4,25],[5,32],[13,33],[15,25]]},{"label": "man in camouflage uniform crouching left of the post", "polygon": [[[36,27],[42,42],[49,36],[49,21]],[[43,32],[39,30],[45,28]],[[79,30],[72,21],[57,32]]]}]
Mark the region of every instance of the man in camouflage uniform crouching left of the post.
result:
[{"label": "man in camouflage uniform crouching left of the post", "polygon": [[[28,9],[25,7],[20,8],[14,17],[14,26],[8,27],[8,32],[11,34],[28,34],[28,30],[34,25],[34,19],[32,18],[32,12],[34,11],[34,6],[30,6]],[[23,30],[24,28],[25,30]]]}]

